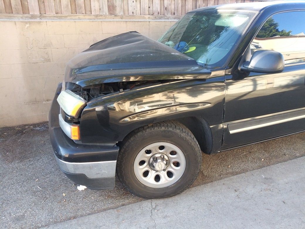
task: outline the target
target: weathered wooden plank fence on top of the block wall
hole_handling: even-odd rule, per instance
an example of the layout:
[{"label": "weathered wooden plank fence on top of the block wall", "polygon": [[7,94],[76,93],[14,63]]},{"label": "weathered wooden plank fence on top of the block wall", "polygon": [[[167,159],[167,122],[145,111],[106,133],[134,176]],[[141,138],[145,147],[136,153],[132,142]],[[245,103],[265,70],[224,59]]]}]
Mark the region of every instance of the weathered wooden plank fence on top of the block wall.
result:
[{"label": "weathered wooden plank fence on top of the block wall", "polygon": [[258,0],[0,0],[0,13],[183,15],[192,9],[204,6],[257,1]]}]

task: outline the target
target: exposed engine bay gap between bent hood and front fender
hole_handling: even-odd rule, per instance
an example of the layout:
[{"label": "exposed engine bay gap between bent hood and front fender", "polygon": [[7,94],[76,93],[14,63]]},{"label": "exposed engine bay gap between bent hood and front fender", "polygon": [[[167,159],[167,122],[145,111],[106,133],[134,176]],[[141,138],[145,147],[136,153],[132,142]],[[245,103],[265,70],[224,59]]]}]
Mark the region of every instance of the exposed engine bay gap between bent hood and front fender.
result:
[{"label": "exposed engine bay gap between bent hood and front fender", "polygon": [[134,90],[142,87],[158,85],[179,80],[140,80],[140,81],[125,81],[125,82],[111,82],[90,85],[82,88],[81,86],[66,82],[66,89],[71,90],[77,95],[84,98],[87,102],[99,97],[110,94],[120,93],[124,91]]}]

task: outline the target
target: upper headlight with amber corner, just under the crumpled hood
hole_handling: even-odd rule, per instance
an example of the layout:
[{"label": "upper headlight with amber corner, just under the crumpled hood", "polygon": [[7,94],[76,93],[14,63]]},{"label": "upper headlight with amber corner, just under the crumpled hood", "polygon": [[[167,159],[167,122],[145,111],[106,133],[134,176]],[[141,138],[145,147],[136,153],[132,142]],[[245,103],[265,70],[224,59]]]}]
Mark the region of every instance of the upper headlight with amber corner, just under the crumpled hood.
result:
[{"label": "upper headlight with amber corner, just under the crumpled hood", "polygon": [[87,103],[81,96],[74,94],[70,90],[62,91],[57,97],[57,102],[67,115],[74,118],[79,116],[81,109],[84,108]]}]

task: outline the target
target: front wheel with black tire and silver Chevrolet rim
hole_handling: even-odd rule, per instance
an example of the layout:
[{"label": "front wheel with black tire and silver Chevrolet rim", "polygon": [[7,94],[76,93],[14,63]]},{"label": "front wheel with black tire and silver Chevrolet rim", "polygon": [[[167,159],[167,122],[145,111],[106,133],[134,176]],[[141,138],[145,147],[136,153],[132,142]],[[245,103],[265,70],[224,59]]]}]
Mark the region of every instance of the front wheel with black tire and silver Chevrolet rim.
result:
[{"label": "front wheel with black tire and silver Chevrolet rim", "polygon": [[[197,140],[186,126],[176,121],[134,130],[120,145],[117,159],[120,181],[128,191],[143,198],[165,198],[183,192],[197,178],[200,167],[201,151]],[[148,172],[143,172],[145,169]]]}]

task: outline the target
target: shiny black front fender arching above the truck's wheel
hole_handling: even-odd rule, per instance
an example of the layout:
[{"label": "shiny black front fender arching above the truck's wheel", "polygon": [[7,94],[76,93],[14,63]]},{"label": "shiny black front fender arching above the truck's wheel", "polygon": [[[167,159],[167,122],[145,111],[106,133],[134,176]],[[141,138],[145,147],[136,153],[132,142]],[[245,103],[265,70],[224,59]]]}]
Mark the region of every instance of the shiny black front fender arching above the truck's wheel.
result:
[{"label": "shiny black front fender arching above the truck's wheel", "polygon": [[84,108],[81,141],[119,142],[141,126],[183,117],[204,118],[219,132],[224,94],[224,76],[219,76],[168,82],[100,97]]}]

